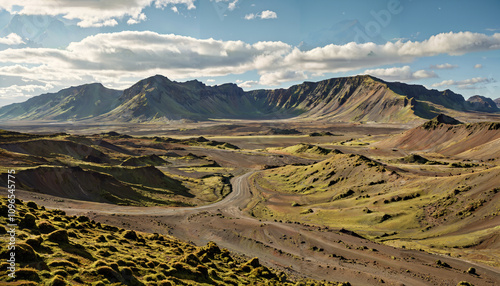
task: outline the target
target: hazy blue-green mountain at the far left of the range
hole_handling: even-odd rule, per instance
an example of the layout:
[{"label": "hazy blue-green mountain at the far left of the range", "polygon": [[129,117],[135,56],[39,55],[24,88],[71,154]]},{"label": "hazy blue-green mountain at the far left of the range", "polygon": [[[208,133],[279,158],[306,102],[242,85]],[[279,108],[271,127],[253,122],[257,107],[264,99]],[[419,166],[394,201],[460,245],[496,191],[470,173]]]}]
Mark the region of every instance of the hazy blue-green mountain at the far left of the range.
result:
[{"label": "hazy blue-green mountain at the far left of the range", "polygon": [[35,96],[0,108],[0,118],[15,120],[78,120],[106,113],[119,105],[121,91],[100,83]]}]

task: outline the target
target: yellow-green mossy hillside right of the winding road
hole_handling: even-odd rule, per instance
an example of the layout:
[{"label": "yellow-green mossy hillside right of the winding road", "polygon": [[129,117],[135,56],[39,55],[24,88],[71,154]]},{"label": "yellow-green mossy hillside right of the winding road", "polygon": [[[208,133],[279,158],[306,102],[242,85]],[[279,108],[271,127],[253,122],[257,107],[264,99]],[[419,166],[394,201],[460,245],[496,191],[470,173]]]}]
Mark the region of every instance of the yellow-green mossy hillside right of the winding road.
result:
[{"label": "yellow-green mossy hillside right of the winding road", "polygon": [[251,213],[498,265],[499,167],[426,163],[335,154],[268,169],[254,176],[262,199]]}]

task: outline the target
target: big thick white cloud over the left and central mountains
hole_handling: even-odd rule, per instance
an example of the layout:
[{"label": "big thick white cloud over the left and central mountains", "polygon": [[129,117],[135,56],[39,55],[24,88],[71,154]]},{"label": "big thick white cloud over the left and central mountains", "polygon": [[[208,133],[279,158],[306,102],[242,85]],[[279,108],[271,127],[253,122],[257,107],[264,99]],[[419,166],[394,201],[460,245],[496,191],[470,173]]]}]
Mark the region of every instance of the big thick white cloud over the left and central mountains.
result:
[{"label": "big thick white cloud over the left and central mountains", "polygon": [[[66,49],[23,48],[0,51],[0,75],[57,80],[67,75],[141,78],[165,74],[172,78],[239,74],[266,69],[291,47],[282,42],[220,41],[155,32],[97,34]],[[26,67],[25,65],[37,65]]]}]

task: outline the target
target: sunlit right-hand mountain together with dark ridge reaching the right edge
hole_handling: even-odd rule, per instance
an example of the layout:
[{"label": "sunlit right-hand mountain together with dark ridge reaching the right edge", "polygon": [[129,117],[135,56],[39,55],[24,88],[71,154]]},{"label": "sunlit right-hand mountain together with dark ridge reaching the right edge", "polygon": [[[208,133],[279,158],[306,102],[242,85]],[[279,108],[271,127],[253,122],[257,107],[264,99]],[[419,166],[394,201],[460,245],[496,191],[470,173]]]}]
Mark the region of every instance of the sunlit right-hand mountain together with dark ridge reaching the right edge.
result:
[{"label": "sunlit right-hand mountain together with dark ridge reaching the right edge", "polygon": [[337,121],[409,122],[431,119],[445,109],[497,112],[469,104],[451,90],[385,82],[363,75],[304,82],[288,89],[250,91],[264,98],[268,110],[300,113],[300,117]]}]

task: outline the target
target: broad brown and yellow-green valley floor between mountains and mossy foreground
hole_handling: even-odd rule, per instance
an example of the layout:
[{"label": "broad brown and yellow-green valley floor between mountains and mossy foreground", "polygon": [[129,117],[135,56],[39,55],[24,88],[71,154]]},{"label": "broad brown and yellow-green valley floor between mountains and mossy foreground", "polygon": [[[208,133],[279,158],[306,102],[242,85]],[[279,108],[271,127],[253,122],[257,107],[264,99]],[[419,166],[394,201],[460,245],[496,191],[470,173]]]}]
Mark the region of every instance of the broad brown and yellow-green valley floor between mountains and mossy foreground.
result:
[{"label": "broad brown and yellow-green valley floor between mountains and mossy foreground", "polygon": [[[34,176],[47,168],[67,172],[68,166],[78,166],[81,171],[71,169],[73,175],[105,174],[106,180],[116,180],[110,185],[130,192],[127,200],[75,200],[36,189],[42,182],[36,181],[18,191],[25,201],[196,245],[214,241],[259,257],[290,279],[352,285],[500,283],[500,158],[386,143],[413,126],[252,121],[182,128],[18,127],[84,136],[9,135],[15,138],[0,142],[2,172],[16,168]],[[118,133],[99,135],[110,130]],[[27,142],[33,140],[76,142],[96,151],[80,154],[79,145],[74,152],[46,156],[30,149]],[[89,160],[89,154],[99,160]],[[139,171],[159,173],[142,181],[126,175]]]}]

